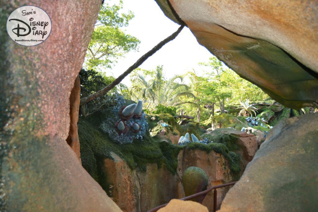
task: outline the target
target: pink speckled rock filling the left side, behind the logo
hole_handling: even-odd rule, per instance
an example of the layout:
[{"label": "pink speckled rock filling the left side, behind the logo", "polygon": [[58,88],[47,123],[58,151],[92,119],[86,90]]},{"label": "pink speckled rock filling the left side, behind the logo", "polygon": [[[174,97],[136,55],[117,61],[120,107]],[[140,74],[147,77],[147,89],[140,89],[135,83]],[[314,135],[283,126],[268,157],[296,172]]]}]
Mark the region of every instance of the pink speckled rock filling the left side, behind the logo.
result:
[{"label": "pink speckled rock filling the left side, behind the logo", "polygon": [[49,14],[52,31],[22,46],[6,22],[30,1],[0,1],[0,211],[120,211],[66,142],[70,94],[100,3],[32,1]]}]

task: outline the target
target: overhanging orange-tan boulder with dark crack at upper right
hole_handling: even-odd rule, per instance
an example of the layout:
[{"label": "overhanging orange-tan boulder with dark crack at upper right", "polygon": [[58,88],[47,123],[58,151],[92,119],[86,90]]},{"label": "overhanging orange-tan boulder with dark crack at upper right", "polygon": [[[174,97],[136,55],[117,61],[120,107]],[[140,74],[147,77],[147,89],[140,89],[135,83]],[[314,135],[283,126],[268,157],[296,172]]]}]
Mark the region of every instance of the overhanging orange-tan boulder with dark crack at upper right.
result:
[{"label": "overhanging orange-tan boulder with dark crack at upper right", "polygon": [[316,1],[170,0],[172,8],[165,0],[156,2],[276,101],[294,109],[318,106]]}]

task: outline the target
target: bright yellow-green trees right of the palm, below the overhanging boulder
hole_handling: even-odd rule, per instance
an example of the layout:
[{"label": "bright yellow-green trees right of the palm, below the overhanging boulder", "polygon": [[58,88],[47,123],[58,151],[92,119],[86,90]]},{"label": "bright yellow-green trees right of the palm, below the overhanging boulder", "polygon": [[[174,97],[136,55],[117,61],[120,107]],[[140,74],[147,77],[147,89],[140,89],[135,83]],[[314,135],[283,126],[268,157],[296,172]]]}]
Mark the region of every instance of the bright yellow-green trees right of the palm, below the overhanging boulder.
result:
[{"label": "bright yellow-green trees right of the palm, below the overhanging boulder", "polygon": [[[259,87],[242,79],[231,69],[224,68],[225,66],[216,57],[211,57],[208,63],[200,63],[200,65],[209,67],[211,70],[201,77],[194,70],[187,73],[186,76],[191,81],[191,91],[196,96],[195,102],[200,106],[198,112],[194,105],[183,105],[182,109],[188,115],[197,116],[199,113],[201,120],[207,120],[214,106],[214,109],[220,109],[223,113],[229,109],[233,111],[241,99],[250,99],[255,102],[269,98]],[[231,105],[236,107],[232,108]]]}]

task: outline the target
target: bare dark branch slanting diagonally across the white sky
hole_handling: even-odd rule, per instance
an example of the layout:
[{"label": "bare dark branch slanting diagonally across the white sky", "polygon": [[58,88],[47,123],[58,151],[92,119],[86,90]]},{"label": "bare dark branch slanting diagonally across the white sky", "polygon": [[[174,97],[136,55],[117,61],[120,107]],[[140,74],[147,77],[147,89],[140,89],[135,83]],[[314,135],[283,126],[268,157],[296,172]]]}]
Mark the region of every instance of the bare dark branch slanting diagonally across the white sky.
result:
[{"label": "bare dark branch slanting diagonally across the white sky", "polygon": [[92,95],[89,95],[87,97],[84,97],[80,99],[79,105],[86,104],[87,102],[92,101],[93,99],[105,95],[108,91],[113,89],[116,85],[118,85],[121,80],[123,80],[130,72],[132,72],[135,68],[138,68],[138,66],[142,65],[143,62],[145,62],[146,59],[148,59],[150,56],[152,56],[156,51],[161,49],[162,46],[167,44],[169,41],[176,38],[176,36],[182,31],[184,25],[180,26],[177,31],[172,33],[169,37],[159,42],[154,48],[152,48],[150,51],[148,51],[146,54],[142,55],[141,58],[139,58],[132,66],[130,66],[124,73],[122,73],[117,79],[115,79],[111,84],[107,85],[103,89],[101,89],[98,92],[93,93]]}]

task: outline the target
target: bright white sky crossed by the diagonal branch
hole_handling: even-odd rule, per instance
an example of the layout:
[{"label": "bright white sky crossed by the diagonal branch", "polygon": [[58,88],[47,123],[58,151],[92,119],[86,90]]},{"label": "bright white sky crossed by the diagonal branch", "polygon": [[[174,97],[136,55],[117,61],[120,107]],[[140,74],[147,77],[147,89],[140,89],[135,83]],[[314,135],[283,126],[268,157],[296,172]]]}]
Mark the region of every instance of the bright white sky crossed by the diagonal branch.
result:
[{"label": "bright white sky crossed by the diagonal branch", "polygon": [[[110,4],[118,4],[118,2],[119,0],[111,0]],[[123,10],[134,12],[135,17],[129,22],[126,32],[138,38],[141,44],[138,52],[129,52],[125,58],[118,60],[113,69],[105,70],[107,75],[113,75],[115,78],[179,27],[163,14],[154,0],[124,0]],[[175,74],[186,73],[192,68],[201,75],[204,67],[199,66],[198,63],[208,62],[211,56],[212,54],[205,47],[198,44],[191,31],[184,27],[176,39],[164,45],[139,67],[153,70],[157,65],[163,65],[167,79]],[[129,76],[122,83],[131,85]]]}]

